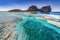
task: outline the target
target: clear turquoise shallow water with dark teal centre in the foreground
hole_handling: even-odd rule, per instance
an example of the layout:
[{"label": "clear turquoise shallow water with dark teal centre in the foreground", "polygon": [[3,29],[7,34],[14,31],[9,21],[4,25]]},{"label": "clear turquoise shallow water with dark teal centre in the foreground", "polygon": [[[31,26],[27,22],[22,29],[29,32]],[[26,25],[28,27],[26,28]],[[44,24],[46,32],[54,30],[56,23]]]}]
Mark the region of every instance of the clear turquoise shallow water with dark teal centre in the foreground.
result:
[{"label": "clear turquoise shallow water with dark teal centre in the foreground", "polygon": [[60,28],[35,17],[23,17],[16,24],[16,40],[60,40]]}]

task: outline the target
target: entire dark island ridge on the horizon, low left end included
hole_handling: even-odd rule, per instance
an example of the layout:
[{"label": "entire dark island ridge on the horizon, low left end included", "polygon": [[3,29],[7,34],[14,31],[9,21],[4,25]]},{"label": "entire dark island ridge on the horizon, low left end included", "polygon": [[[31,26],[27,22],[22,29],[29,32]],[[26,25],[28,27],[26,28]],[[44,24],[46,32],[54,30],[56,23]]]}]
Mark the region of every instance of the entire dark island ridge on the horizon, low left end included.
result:
[{"label": "entire dark island ridge on the horizon, low left end included", "polygon": [[51,7],[44,6],[41,9],[39,9],[36,6],[32,5],[27,10],[13,9],[13,10],[9,10],[8,12],[32,12],[32,11],[51,12]]}]

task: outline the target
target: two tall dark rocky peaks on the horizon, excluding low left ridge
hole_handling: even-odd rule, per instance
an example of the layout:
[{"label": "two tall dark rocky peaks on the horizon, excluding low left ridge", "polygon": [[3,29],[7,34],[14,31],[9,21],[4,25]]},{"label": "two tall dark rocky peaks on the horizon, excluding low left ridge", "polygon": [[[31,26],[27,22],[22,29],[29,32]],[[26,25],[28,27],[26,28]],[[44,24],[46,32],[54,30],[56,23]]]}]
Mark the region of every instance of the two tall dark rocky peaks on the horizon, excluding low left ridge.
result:
[{"label": "two tall dark rocky peaks on the horizon, excluding low left ridge", "polygon": [[30,6],[27,11],[51,12],[51,7],[44,6],[41,9],[38,9],[36,6]]}]

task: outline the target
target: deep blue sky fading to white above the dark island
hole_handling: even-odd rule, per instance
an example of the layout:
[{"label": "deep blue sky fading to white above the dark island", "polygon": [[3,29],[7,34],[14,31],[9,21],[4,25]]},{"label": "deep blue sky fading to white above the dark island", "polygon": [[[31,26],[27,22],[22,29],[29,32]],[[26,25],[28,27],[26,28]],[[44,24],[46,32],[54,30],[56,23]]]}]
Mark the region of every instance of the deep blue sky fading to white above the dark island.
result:
[{"label": "deep blue sky fading to white above the dark island", "polygon": [[26,10],[31,5],[35,5],[38,8],[50,5],[52,11],[60,11],[60,0],[0,0],[0,11],[11,9]]}]

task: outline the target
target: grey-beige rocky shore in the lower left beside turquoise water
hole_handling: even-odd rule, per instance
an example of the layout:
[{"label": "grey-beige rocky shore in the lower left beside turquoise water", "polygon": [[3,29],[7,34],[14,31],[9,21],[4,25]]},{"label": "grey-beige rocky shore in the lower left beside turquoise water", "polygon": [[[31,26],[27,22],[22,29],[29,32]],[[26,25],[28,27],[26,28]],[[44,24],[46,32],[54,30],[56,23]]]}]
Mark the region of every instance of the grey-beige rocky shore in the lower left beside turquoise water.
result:
[{"label": "grey-beige rocky shore in the lower left beside turquoise water", "polygon": [[0,23],[0,40],[11,40],[13,36],[13,30],[15,28],[15,24],[19,22],[21,19],[17,17],[9,17],[6,20]]}]

